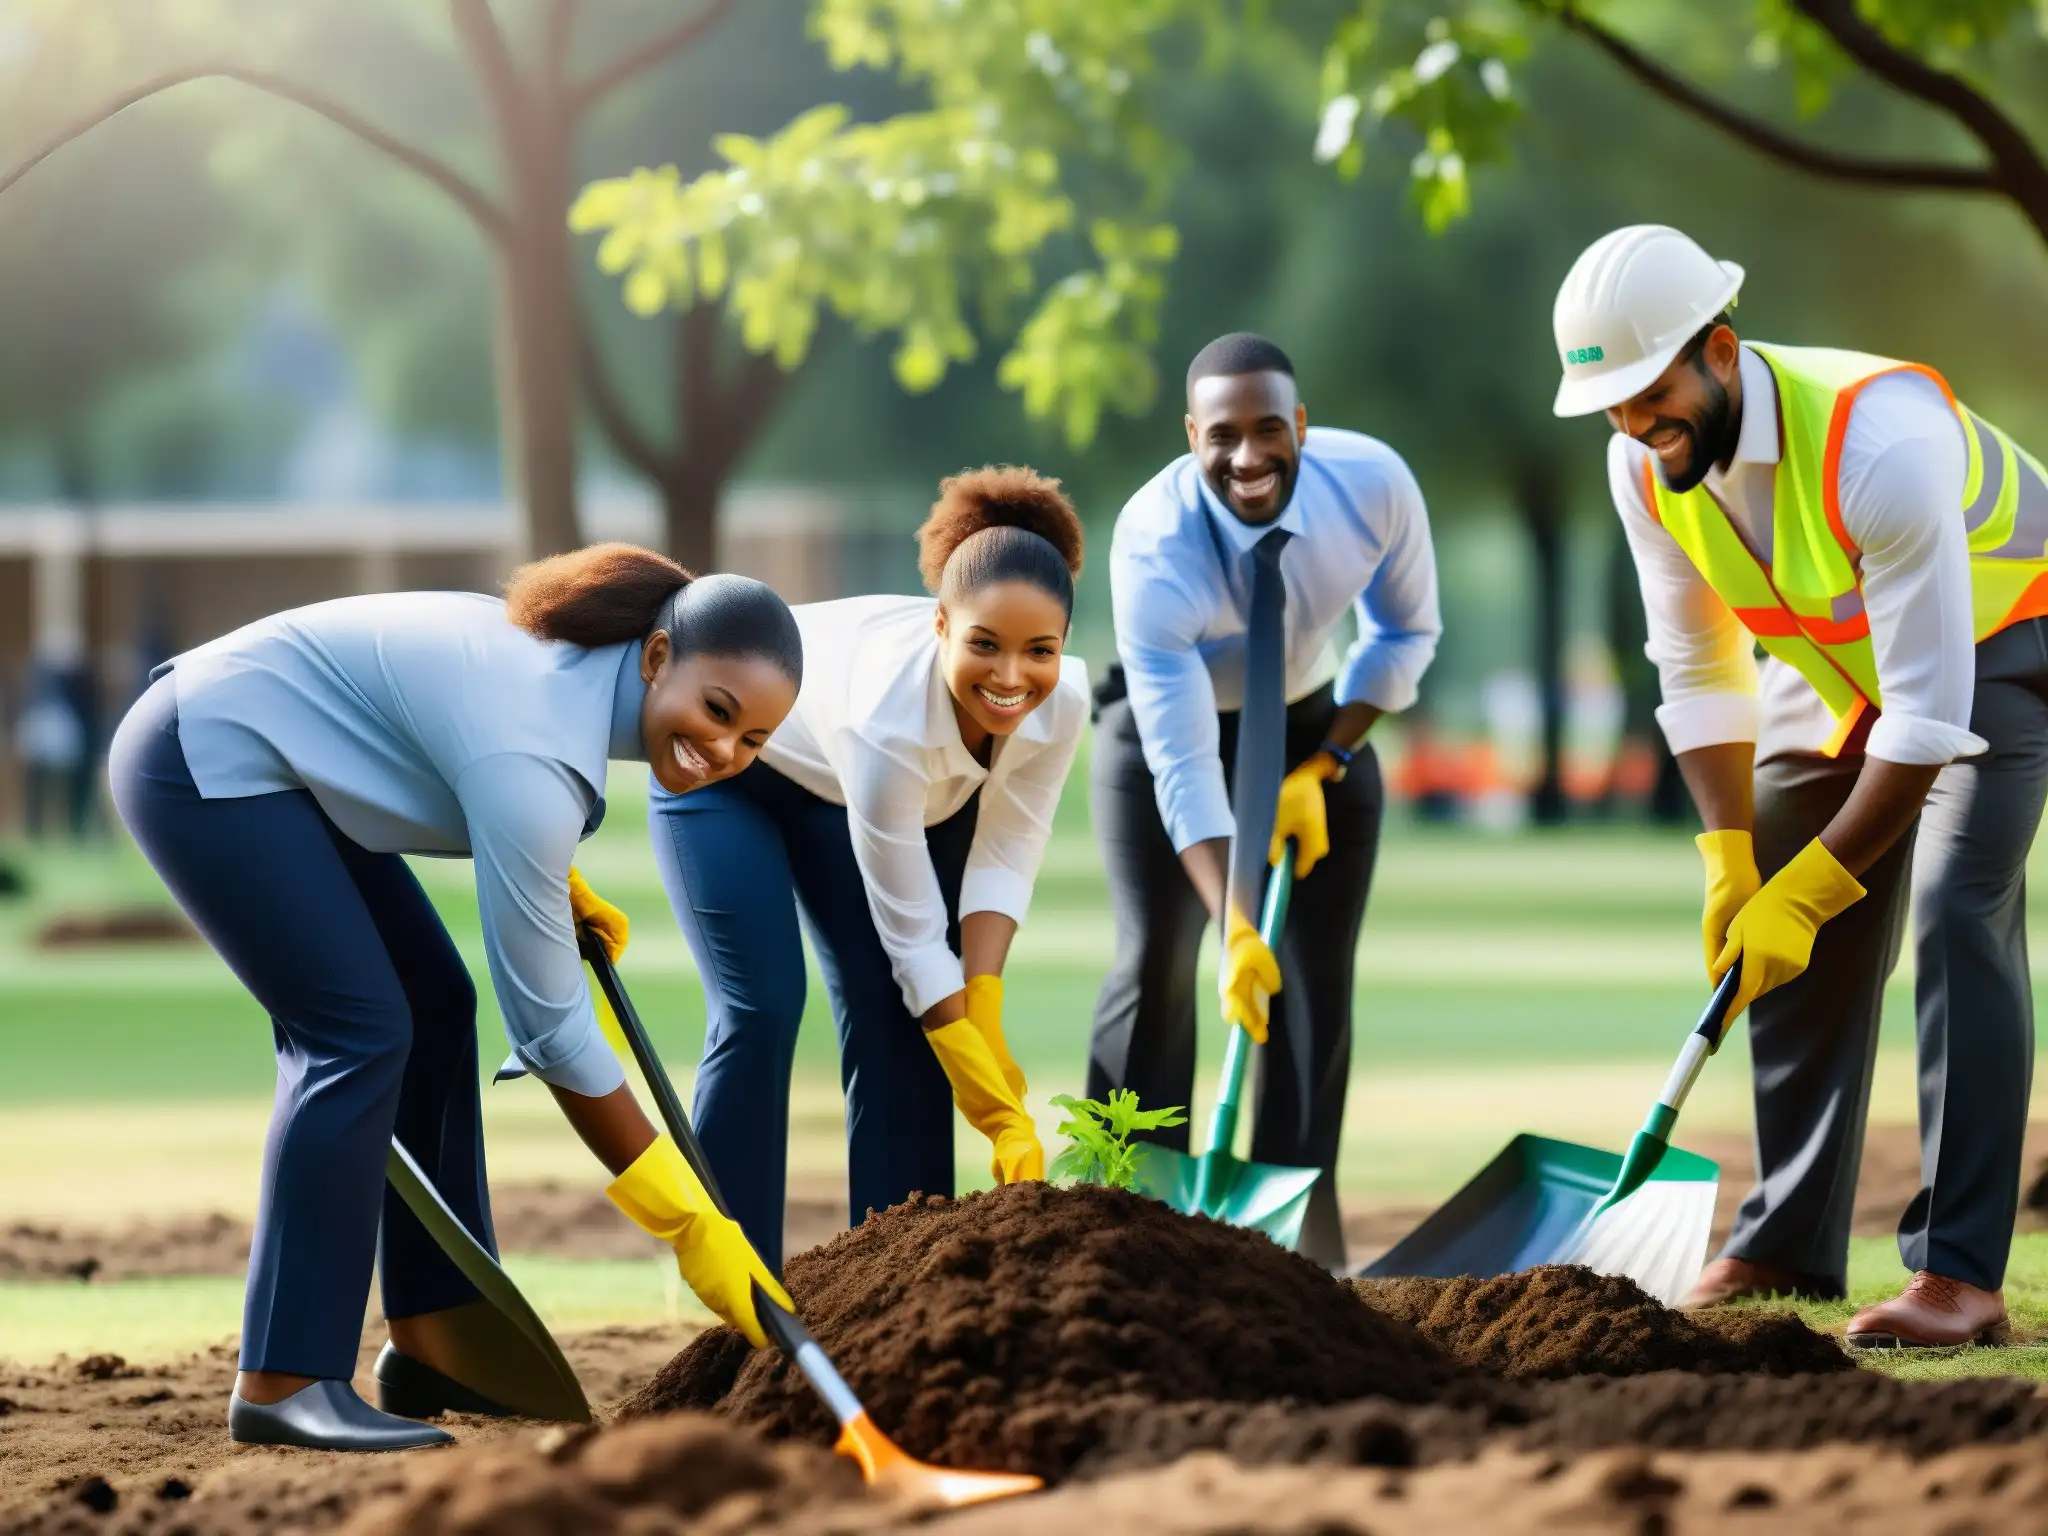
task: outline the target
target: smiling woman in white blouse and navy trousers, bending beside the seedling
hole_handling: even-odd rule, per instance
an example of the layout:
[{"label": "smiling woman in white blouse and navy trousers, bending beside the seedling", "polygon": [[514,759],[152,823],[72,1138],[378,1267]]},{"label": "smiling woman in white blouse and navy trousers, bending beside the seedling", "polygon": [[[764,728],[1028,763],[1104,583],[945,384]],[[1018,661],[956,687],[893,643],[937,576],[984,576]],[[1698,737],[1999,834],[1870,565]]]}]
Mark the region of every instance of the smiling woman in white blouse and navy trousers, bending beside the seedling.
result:
[{"label": "smiling woman in white blouse and navy trousers, bending beside the seedling", "polygon": [[1001,971],[1087,721],[1065,655],[1081,520],[1059,481],[977,469],[940,485],[918,543],[934,596],[799,606],[803,690],[754,770],[649,805],[711,1006],[696,1130],[770,1268],[799,913],[840,1030],[850,1219],[952,1192],[948,1085],[997,1182],[1044,1178]]}]

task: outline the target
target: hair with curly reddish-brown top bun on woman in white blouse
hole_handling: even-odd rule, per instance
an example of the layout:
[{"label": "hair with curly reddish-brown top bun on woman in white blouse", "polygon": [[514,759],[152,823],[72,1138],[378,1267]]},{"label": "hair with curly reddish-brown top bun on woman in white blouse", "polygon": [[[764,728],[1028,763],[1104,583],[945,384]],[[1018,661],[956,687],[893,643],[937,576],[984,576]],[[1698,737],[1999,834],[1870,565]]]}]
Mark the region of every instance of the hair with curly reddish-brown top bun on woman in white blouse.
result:
[{"label": "hair with curly reddish-brown top bun on woman in white blouse", "polygon": [[918,571],[942,600],[1028,582],[1073,618],[1081,545],[1081,518],[1057,479],[1022,465],[987,465],[940,481],[918,528]]}]

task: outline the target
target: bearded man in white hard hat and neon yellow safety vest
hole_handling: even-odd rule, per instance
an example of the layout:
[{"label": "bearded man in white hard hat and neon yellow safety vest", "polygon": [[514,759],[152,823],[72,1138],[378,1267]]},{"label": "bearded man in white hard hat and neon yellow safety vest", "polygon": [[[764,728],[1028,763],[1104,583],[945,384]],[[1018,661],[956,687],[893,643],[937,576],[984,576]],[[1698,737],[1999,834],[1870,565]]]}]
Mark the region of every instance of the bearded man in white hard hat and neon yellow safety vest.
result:
[{"label": "bearded man in white hard hat and neon yellow safety vest", "polygon": [[1706,823],[1708,973],[1741,967],[1735,1012],[1755,1004],[1757,1184],[1688,1303],[1843,1294],[1911,885],[1915,1276],[1849,1341],[1964,1343],[2005,1321],[2034,1071],[2048,475],[1933,369],[1739,342],[1741,283],[1634,225],[1579,256],[1552,315],[1556,414],[1616,430],[1657,719]]}]

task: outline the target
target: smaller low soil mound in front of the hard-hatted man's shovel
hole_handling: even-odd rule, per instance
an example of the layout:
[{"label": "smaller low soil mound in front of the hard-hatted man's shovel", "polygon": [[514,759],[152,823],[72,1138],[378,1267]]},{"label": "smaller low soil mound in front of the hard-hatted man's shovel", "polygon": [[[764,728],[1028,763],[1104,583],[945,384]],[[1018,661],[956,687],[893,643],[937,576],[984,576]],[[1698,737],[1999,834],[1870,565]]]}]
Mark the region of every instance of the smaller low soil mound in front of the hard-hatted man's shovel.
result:
[{"label": "smaller low soil mound in front of the hard-hatted man's shovel", "polygon": [[1825,1333],[1792,1313],[1679,1313],[1634,1280],[1546,1264],[1491,1280],[1354,1280],[1454,1360],[1503,1380],[1640,1376],[1653,1370],[1802,1376],[1855,1370]]}]

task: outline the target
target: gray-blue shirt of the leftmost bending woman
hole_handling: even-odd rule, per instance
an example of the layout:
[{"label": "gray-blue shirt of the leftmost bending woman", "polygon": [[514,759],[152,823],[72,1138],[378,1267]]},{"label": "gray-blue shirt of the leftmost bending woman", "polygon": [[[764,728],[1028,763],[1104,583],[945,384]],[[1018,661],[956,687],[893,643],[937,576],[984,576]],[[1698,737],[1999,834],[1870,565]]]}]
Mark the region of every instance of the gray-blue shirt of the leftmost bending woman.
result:
[{"label": "gray-blue shirt of the leftmost bending woman", "polygon": [[469,592],[340,598],[168,662],[205,799],[305,788],[373,852],[469,856],[506,1036],[575,1094],[625,1071],[598,1030],[569,862],[608,758],[645,760],[639,647],[539,641]]}]

